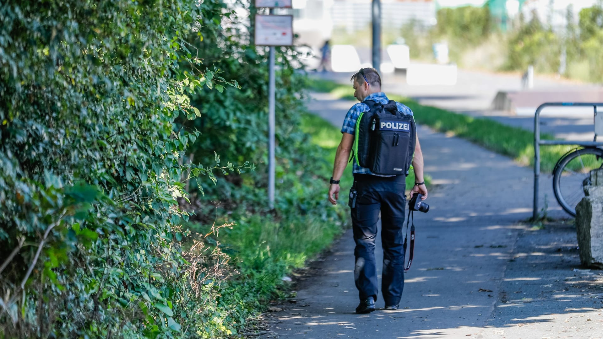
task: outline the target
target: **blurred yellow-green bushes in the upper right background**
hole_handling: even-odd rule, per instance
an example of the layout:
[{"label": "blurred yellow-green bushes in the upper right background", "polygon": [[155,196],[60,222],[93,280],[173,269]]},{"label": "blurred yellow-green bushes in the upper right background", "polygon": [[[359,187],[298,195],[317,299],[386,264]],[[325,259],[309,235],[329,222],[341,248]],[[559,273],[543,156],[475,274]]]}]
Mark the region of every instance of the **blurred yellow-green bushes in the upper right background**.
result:
[{"label": "blurred yellow-green bushes in the upper right background", "polygon": [[431,61],[432,43],[446,40],[450,60],[461,67],[523,72],[533,65],[539,73],[561,72],[569,78],[601,82],[601,4],[582,8],[577,24],[570,4],[563,31],[545,27],[536,13],[532,13],[528,22],[520,13],[510,22],[510,30],[499,31],[496,19],[485,5],[441,8],[437,11],[437,25],[431,29],[421,29],[416,22],[410,21],[403,26],[400,35],[405,38],[414,59]]}]

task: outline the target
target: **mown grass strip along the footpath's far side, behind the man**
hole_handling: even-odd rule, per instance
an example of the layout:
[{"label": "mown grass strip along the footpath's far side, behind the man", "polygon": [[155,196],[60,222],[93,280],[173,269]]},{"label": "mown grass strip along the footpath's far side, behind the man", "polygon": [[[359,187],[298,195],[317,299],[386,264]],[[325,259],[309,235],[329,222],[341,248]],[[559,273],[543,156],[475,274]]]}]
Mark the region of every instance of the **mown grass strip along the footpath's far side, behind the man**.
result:
[{"label": "mown grass strip along the footpath's far side, behind the man", "polygon": [[[337,99],[347,99],[347,95],[353,91],[349,85],[337,84],[328,80],[313,80],[312,86],[313,90],[332,93],[333,97]],[[534,133],[532,131],[500,124],[488,118],[474,118],[437,107],[424,106],[400,95],[389,95],[388,97],[412,109],[418,124],[428,125],[437,131],[452,133],[488,150],[510,156],[521,165],[534,165]],[[543,134],[541,139],[554,138],[551,135]],[[541,170],[543,172],[552,171],[557,160],[572,148],[575,147],[567,145],[541,147]],[[578,170],[578,168],[573,168],[573,170]]]}]

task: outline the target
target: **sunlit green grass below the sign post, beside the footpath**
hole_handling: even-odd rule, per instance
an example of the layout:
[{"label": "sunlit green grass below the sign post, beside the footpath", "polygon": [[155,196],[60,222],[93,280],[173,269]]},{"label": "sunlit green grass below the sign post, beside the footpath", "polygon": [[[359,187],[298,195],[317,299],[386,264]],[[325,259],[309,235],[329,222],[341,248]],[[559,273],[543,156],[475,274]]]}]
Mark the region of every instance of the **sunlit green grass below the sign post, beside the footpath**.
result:
[{"label": "sunlit green grass below the sign post, beside the footpath", "polygon": [[[343,210],[343,206],[335,209]],[[226,265],[219,267],[224,276],[232,274],[225,282],[208,282],[203,287],[207,298],[199,307],[213,315],[200,338],[238,338],[249,332],[253,318],[271,302],[291,295],[292,283],[283,281],[283,277],[292,277],[292,270],[305,267],[309,259],[329,247],[345,229],[347,216],[340,211],[305,214],[296,209],[280,216],[234,211],[228,219],[236,221],[232,229],[221,229],[217,239],[210,242],[229,253],[235,264],[229,271]],[[207,232],[207,227],[201,225],[191,228]],[[206,260],[199,264],[212,269],[219,257],[208,253]]]}]

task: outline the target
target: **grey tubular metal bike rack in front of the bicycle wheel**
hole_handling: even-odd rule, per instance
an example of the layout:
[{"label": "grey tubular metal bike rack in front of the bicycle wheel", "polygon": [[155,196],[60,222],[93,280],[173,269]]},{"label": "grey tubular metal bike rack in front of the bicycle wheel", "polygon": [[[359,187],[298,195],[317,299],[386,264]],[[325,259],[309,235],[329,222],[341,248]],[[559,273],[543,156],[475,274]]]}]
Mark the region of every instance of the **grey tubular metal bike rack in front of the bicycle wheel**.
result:
[{"label": "grey tubular metal bike rack in front of the bicycle wheel", "polygon": [[[595,139],[593,141],[569,141],[569,140],[540,140],[540,111],[545,107],[564,106],[564,107],[582,107],[592,106],[595,112]],[[603,142],[597,142],[597,136],[603,135],[603,112],[597,114],[597,106],[603,106],[603,103],[544,103],[538,106],[534,114],[534,212],[532,220],[538,218],[538,188],[540,186],[540,145],[579,145],[579,146],[603,146]]]}]

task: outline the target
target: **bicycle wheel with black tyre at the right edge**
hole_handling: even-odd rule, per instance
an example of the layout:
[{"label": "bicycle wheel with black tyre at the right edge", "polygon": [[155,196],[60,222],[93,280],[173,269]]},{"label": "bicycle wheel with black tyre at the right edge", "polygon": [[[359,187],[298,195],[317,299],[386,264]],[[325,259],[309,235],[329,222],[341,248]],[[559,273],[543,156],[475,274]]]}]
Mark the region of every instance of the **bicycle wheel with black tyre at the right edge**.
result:
[{"label": "bicycle wheel with black tyre at the right edge", "polygon": [[603,150],[579,148],[559,160],[553,175],[553,192],[561,207],[573,217],[576,205],[584,198],[584,186],[590,183],[590,171],[603,168]]}]

